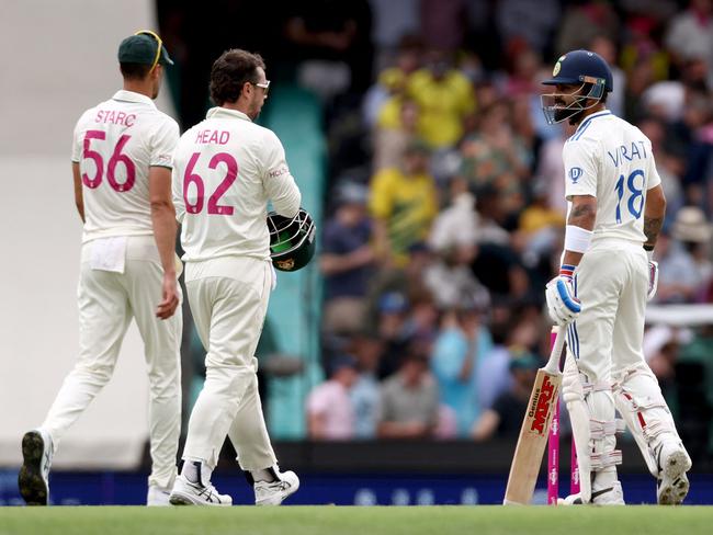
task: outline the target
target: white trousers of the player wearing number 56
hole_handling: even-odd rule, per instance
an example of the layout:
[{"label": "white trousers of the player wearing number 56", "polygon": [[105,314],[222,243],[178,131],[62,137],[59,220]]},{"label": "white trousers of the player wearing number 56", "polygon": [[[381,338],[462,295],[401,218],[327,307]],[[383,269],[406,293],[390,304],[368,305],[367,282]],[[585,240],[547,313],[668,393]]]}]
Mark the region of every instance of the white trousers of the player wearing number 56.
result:
[{"label": "white trousers of the player wearing number 56", "polygon": [[127,238],[124,273],[92,270],[91,249],[90,241],[81,251],[79,358],[42,428],[49,432],[56,448],[65,432],[111,379],[133,317],[144,340],[148,371],[152,462],[148,483],[170,489],[176,478],[181,431],[181,306],[167,320],[156,317],[156,307],[162,299],[163,269],[152,236]]}]

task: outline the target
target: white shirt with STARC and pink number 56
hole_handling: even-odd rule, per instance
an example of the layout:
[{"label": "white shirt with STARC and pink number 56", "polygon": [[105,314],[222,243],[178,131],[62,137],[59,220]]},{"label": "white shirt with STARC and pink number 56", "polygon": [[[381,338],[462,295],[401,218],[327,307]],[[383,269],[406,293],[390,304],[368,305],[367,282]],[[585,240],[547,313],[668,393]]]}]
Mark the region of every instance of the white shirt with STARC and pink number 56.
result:
[{"label": "white shirt with STARC and pink number 56", "polygon": [[149,167],[170,169],[178,138],[176,121],[133,91],[117,91],[82,114],[71,160],[79,163],[82,178],[83,242],[154,234]]}]

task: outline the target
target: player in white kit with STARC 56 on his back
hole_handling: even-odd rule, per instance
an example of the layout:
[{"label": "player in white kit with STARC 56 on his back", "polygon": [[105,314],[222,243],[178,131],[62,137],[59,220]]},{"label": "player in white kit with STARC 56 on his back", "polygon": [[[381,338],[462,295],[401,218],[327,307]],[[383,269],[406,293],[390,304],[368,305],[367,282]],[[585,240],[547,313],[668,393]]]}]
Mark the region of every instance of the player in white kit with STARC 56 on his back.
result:
[{"label": "player in white kit with STARC 56 on his back", "polygon": [[111,379],[132,318],[144,340],[149,378],[147,504],[168,505],[176,478],[182,317],[171,156],[179,127],[152,101],[163,66],[172,61],[150,31],[124,39],[118,61],[124,88],[87,110],[75,128],[75,198],[84,224],[79,358],[45,421],[23,437],[19,487],[29,504],[47,504],[53,454]]}]

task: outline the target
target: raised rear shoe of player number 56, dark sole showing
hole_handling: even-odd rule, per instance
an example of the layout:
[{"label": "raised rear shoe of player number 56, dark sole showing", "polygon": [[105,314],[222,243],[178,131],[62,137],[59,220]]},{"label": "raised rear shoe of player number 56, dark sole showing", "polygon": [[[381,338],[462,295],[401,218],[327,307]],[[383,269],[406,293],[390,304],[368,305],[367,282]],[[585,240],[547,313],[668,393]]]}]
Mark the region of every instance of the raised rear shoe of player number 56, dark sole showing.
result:
[{"label": "raised rear shoe of player number 56, dark sole showing", "polygon": [[54,453],[52,436],[43,429],[27,431],[22,437],[22,467],[18,474],[18,487],[27,505],[47,504]]}]

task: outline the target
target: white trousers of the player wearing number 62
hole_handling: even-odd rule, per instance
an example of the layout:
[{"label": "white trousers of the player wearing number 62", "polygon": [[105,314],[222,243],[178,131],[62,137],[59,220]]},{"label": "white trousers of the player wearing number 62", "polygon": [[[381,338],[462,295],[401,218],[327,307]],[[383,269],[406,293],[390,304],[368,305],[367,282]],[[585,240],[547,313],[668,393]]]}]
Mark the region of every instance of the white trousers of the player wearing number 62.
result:
[{"label": "white trousers of the player wearing number 62", "polygon": [[245,257],[185,266],[189,304],[207,354],[205,384],[191,413],[183,458],[200,460],[211,470],[226,434],[244,470],[276,463],[258,394],[254,357],[272,276],[270,261]]}]

